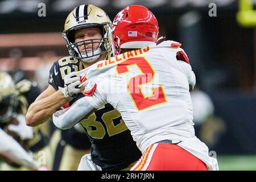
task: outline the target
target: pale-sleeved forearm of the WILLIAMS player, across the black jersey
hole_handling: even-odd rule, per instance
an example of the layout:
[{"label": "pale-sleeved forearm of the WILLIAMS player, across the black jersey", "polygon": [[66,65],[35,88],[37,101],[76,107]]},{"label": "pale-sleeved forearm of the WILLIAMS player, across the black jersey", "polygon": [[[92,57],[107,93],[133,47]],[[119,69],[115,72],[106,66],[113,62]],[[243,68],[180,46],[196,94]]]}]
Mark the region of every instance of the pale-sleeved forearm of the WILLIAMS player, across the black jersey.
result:
[{"label": "pale-sleeved forearm of the WILLIAMS player, across the black jersey", "polygon": [[56,111],[52,115],[53,123],[59,129],[70,129],[81,121],[82,118],[88,117],[95,110],[96,109],[86,100],[86,97],[82,97],[72,106]]}]

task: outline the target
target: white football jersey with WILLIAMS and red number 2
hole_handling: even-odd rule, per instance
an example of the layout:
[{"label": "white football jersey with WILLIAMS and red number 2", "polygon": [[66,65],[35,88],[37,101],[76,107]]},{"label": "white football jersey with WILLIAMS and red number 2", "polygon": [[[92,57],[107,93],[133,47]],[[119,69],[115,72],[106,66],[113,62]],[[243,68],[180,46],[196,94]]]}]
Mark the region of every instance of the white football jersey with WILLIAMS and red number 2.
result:
[{"label": "white football jersey with WILLIAMS and red number 2", "polygon": [[90,105],[113,105],[142,152],[160,140],[195,137],[189,94],[195,75],[191,65],[176,59],[183,49],[172,43],[129,51],[87,70],[88,80],[97,84],[93,95],[86,97]]}]

